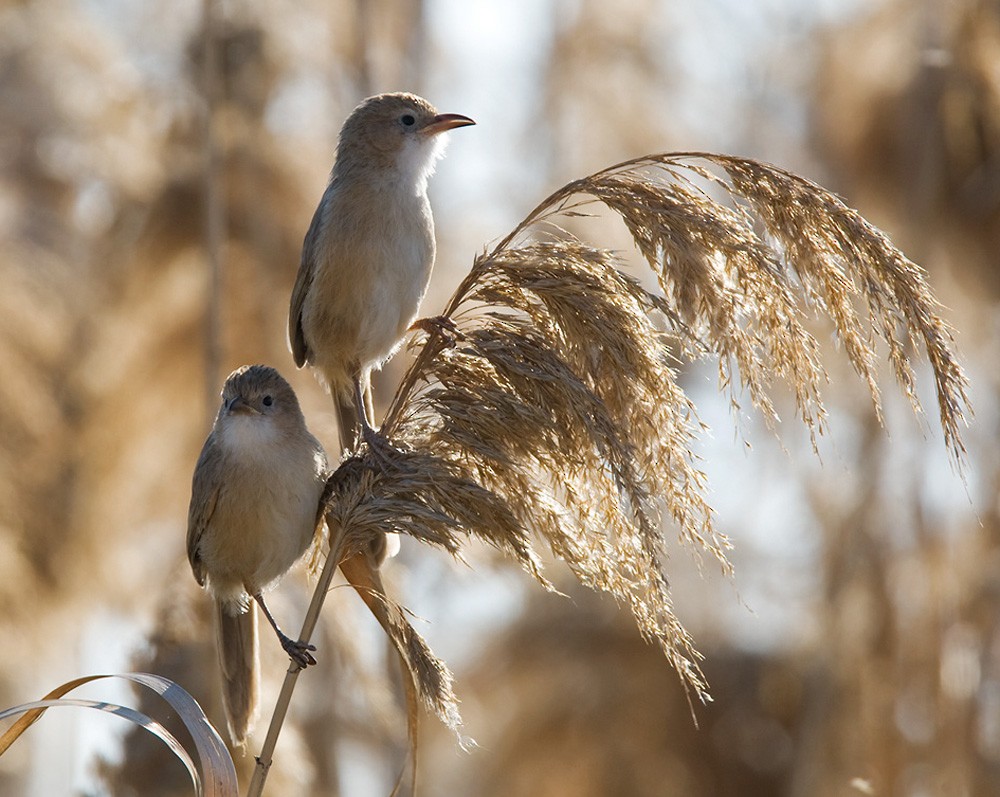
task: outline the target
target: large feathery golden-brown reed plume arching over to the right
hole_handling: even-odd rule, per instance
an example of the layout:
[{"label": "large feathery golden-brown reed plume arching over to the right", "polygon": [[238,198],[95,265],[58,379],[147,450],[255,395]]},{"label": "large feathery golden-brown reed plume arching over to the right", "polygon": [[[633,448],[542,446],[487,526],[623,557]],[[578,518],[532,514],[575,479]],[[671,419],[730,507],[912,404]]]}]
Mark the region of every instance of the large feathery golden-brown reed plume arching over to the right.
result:
[{"label": "large feathery golden-brown reed plume arching over to the right", "polygon": [[[720,189],[729,204],[714,198]],[[661,294],[609,251],[552,240],[560,214],[594,202],[622,218]],[[532,239],[539,224],[547,235]],[[787,385],[815,444],[827,375],[807,309],[830,317],[876,407],[876,341],[915,409],[921,343],[961,462],[967,383],[919,268],[839,199],[781,169],[655,155],[568,184],[476,258],[445,311],[454,332],[430,334],[386,416],[398,455],[381,470],[345,465],[331,517],[362,538],[392,530],[453,554],[476,536],[547,584],[532,547],[544,541],[583,583],[629,606],[704,697],[664,575],[662,520],[724,569],[728,542],[704,498],[692,452],[700,426],[671,351],[717,358],[733,401],[745,389],[772,423],[772,389]]]}]

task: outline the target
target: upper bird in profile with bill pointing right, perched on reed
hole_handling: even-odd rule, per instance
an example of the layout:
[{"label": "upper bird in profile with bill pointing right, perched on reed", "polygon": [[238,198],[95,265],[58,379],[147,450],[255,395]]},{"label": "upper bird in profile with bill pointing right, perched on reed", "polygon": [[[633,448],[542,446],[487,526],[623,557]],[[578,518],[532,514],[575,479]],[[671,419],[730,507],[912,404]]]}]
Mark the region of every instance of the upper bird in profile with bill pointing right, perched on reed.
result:
[{"label": "upper bird in profile with bill pointing right, perched on reed", "polygon": [[362,101],[340,131],[326,190],[302,245],[288,313],[295,364],[333,396],[343,450],[376,455],[371,372],[399,348],[430,281],[434,219],[427,181],[445,133],[475,122],[409,93]]}]

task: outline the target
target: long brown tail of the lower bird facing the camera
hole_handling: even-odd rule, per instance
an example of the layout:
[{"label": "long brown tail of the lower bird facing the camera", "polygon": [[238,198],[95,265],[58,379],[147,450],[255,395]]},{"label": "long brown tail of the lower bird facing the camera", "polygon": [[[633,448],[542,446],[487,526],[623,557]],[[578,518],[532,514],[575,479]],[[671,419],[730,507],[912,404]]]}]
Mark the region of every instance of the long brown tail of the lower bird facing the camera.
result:
[{"label": "long brown tail of the lower bird facing the camera", "polygon": [[222,704],[226,709],[229,735],[242,747],[257,712],[260,676],[257,672],[257,607],[243,614],[230,614],[215,603],[219,665],[222,670]]}]

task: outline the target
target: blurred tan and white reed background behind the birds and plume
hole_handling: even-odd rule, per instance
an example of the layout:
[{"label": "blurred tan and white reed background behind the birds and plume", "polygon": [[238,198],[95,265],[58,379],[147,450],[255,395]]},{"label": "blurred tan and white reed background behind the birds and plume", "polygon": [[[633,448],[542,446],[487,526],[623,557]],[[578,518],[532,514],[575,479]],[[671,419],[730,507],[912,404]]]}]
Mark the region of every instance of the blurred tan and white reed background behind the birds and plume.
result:
[{"label": "blurred tan and white reed background behind the birds and plume", "polygon": [[[963,481],[927,374],[914,420],[885,373],[883,431],[822,322],[819,457],[794,423],[775,436],[734,417],[710,364],[687,369],[736,566],[669,562],[714,696],[697,727],[628,613],[557,566],[569,600],[484,551],[466,567],[404,541],[390,588],[455,671],[479,743],[463,752],[426,717],[421,793],[997,793],[997,0],[0,2],[0,705],[142,669],[224,727],[184,554],[191,473],[247,362],[293,382],[336,454],[328,399],[286,350],[287,299],[343,118],[404,89],[478,122],[431,183],[427,313],[570,179],[654,151],[758,157],[838,192],[927,268],[976,409]],[[628,247],[612,224],[587,230]],[[271,605],[297,628],[308,595],[299,572]],[[272,641],[265,720],[285,669]],[[384,640],[336,588],[315,641],[269,793],[388,794],[405,723]],[[189,794],[157,744],[51,711],[0,759],[0,794]]]}]

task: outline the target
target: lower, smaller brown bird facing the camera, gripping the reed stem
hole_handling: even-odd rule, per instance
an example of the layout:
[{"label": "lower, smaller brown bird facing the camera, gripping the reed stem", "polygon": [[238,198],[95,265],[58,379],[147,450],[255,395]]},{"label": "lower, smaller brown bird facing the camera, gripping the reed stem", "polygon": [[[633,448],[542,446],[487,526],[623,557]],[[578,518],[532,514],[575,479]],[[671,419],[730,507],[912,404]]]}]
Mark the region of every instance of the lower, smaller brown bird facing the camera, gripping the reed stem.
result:
[{"label": "lower, smaller brown bird facing the camera, gripping the reed stem", "polygon": [[284,634],[264,602],[321,528],[327,458],[291,385],[274,368],[237,368],[191,483],[187,554],[215,599],[223,706],[234,744],[252,726],[259,691],[257,614],[300,668],[316,648]]}]

